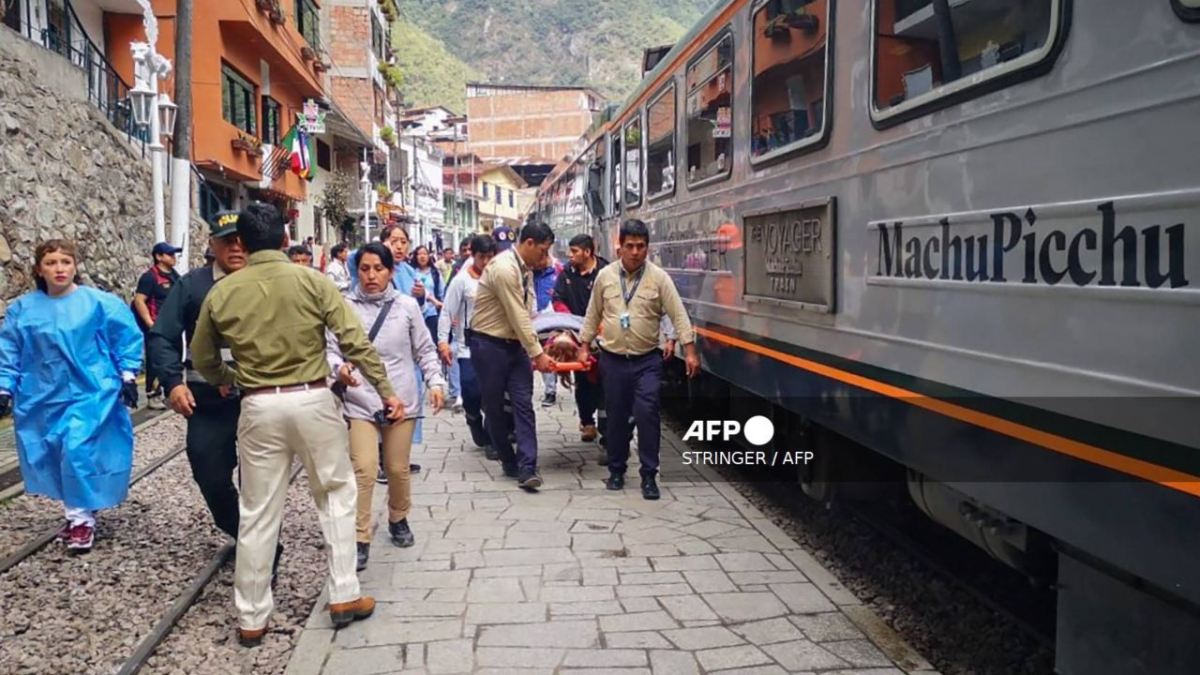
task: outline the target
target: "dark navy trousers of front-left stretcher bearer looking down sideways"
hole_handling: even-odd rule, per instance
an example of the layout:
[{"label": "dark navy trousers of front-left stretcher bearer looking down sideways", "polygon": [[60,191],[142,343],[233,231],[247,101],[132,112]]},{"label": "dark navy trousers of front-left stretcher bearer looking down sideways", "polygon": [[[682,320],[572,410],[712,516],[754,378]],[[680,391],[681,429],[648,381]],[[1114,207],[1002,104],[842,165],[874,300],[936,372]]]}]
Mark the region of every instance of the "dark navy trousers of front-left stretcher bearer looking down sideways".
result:
[{"label": "dark navy trousers of front-left stretcher bearer looking down sideways", "polygon": [[[479,334],[467,339],[470,360],[479,377],[484,398],[484,424],[492,447],[505,467],[521,473],[538,471],[538,432],[533,416],[533,368],[517,341],[497,340]],[[504,395],[512,406],[512,422],[504,411]],[[466,406],[466,400],[463,405]],[[516,435],[516,452],[509,441],[509,428]]]}]

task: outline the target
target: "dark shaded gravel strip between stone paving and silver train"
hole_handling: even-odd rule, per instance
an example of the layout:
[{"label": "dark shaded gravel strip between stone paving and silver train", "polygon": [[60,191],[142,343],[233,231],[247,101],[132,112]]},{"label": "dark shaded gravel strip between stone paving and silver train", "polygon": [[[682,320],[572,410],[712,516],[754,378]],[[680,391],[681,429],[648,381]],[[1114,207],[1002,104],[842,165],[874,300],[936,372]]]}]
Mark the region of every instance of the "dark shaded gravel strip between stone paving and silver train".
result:
[{"label": "dark shaded gravel strip between stone paving and silver train", "polygon": [[[964,592],[928,563],[880,536],[856,515],[826,509],[798,485],[736,483],[743,496],[812,554],[942,675],[1049,675],[1054,652],[1012,619]],[[744,478],[742,478],[744,480]],[[947,537],[955,537],[947,533]],[[946,552],[976,569],[970,580],[989,597],[1025,593],[1022,580],[966,542]]]}]

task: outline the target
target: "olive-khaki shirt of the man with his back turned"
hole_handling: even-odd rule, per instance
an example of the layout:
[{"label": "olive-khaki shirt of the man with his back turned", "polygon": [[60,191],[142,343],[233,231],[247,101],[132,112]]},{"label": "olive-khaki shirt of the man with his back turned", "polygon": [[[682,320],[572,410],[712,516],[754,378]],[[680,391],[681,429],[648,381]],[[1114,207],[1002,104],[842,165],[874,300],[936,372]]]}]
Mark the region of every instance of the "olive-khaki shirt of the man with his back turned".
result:
[{"label": "olive-khaki shirt of the man with his back turned", "polygon": [[[346,360],[362,371],[379,395],[395,395],[362,322],[342,300],[334,282],[281,251],[258,251],[250,264],[212,287],[192,336],[192,366],[214,386],[242,389],[286,387],[324,380],[325,329],[341,344]],[[229,345],[238,369],[221,358]]]}]

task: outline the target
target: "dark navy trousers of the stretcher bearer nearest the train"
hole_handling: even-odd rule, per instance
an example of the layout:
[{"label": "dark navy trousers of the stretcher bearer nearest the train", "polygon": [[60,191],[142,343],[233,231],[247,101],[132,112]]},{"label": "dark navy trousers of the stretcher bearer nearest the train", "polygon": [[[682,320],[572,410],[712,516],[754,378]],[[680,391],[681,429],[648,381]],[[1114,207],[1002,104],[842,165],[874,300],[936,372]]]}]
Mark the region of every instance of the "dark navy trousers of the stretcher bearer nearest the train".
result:
[{"label": "dark navy trousers of the stretcher bearer nearest the train", "polygon": [[629,467],[629,443],[637,428],[637,456],[642,462],[642,478],[654,478],[659,472],[659,442],[661,417],[659,388],[662,383],[662,352],[625,358],[600,351],[600,377],[604,380],[605,407],[608,408],[607,449],[608,471],[625,473]]}]

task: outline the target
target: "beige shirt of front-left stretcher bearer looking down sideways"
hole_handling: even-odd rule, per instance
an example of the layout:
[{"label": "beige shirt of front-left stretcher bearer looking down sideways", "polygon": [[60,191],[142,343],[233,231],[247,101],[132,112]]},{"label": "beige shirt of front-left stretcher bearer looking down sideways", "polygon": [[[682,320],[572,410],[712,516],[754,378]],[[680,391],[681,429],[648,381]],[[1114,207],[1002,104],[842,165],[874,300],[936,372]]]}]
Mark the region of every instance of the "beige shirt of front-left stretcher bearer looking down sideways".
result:
[{"label": "beige shirt of front-left stretcher bearer looking down sideways", "polygon": [[533,273],[516,249],[509,249],[487,263],[484,276],[479,277],[470,329],[492,338],[518,340],[529,358],[536,358],[542,352],[530,318],[536,299]]}]

